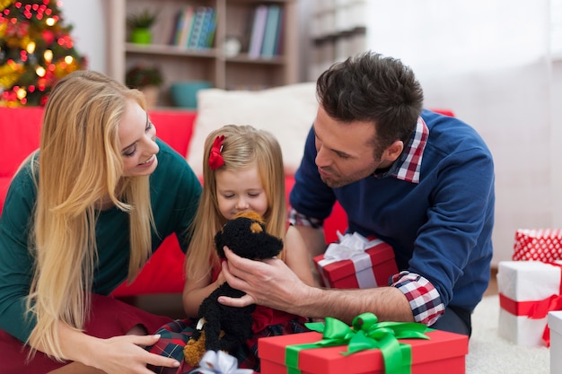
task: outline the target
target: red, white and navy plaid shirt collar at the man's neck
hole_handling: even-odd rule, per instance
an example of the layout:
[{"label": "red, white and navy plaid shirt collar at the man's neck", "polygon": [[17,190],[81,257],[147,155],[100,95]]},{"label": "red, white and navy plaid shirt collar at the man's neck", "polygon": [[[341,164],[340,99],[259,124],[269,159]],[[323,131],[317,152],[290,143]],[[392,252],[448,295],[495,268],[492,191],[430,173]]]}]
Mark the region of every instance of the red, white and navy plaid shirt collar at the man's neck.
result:
[{"label": "red, white and navy plaid shirt collar at the man's neck", "polygon": [[409,140],[408,145],[400,154],[391,168],[382,173],[373,173],[374,178],[397,178],[411,183],[419,183],[419,170],[421,169],[422,156],[426,148],[429,129],[422,117],[417,117],[416,131]]}]

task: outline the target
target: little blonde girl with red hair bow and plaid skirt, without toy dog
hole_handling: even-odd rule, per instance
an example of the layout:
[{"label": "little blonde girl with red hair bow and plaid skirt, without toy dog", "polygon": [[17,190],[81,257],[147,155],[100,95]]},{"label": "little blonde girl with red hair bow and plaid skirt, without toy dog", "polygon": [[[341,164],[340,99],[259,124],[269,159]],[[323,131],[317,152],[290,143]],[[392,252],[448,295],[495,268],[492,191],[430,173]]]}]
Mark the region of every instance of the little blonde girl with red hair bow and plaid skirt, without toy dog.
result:
[{"label": "little blonde girl with red hair bow and plaid skirt, without toy dog", "polygon": [[[203,191],[192,226],[186,257],[187,279],[183,308],[188,319],[162,326],[162,335],[151,352],[183,361],[182,348],[189,341],[201,302],[224,283],[214,237],[236,213],[255,211],[264,217],[270,234],[282,238],[285,248],[278,256],[304,283],[313,284],[311,260],[303,239],[286,223],[285,172],[281,147],[275,137],[252,126],[227,125],[209,134],[205,142]],[[307,331],[307,318],[258,306],[252,314],[253,336],[236,356],[240,368],[259,371],[258,338]],[[183,362],[174,373],[187,373]],[[158,368],[157,372],[162,372]]]}]

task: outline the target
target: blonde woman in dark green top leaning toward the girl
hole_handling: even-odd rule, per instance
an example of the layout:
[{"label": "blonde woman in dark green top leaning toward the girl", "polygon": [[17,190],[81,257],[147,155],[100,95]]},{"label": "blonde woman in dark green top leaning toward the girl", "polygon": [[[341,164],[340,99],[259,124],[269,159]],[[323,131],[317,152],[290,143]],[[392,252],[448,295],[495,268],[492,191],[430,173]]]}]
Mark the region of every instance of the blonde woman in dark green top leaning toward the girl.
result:
[{"label": "blonde woman in dark green top leaning toward the girl", "polygon": [[[201,186],[156,139],[140,91],[78,71],[51,92],[40,149],[0,218],[0,363],[6,373],[147,373],[170,321],[107,296],[175,232],[184,250]],[[74,362],[73,362],[74,361]]]}]

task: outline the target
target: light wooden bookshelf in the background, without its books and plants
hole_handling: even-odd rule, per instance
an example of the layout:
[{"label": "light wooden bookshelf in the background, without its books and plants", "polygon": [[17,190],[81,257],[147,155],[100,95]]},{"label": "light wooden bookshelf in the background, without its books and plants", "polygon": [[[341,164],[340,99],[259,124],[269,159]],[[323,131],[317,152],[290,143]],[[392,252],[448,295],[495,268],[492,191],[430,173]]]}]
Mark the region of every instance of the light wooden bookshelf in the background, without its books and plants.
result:
[{"label": "light wooden bookshelf in the background, without its books and plants", "polygon": [[[170,85],[181,81],[208,81],[214,87],[259,90],[298,82],[298,40],[296,0],[111,0],[107,2],[108,74],[125,81],[127,69],[138,63],[159,66],[164,75],[159,107],[171,106]],[[188,7],[209,7],[215,11],[213,41],[206,48],[189,48],[173,43],[178,14]],[[268,54],[250,55],[250,37],[256,9],[277,8],[275,46]],[[127,15],[143,10],[158,12],[153,41],[139,45],[128,41]],[[267,22],[266,22],[267,23]],[[265,32],[265,30],[264,30]],[[271,31],[270,31],[271,32]],[[265,39],[265,33],[263,38]],[[226,51],[225,41],[235,39],[238,54]],[[232,51],[232,49],[231,49]]]}]

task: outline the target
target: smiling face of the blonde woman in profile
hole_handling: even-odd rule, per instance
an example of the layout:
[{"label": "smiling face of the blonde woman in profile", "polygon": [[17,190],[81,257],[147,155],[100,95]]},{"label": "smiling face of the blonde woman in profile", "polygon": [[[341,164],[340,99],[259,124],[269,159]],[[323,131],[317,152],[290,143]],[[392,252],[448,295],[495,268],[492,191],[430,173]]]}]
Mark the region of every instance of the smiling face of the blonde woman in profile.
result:
[{"label": "smiling face of the blonde woman in profile", "polygon": [[160,149],[155,139],[156,128],[145,110],[136,101],[127,100],[125,114],[119,124],[124,177],[150,175],[156,170],[156,153]]}]

